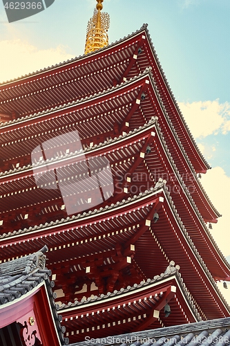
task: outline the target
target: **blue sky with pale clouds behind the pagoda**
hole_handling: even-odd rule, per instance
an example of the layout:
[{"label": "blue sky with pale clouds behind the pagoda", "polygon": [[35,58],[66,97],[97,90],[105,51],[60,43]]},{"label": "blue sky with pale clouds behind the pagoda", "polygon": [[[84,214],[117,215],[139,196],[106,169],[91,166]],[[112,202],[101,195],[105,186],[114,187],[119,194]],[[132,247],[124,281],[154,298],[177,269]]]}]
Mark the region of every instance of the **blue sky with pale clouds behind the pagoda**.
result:
[{"label": "blue sky with pale clouds behind the pagoda", "polygon": [[[0,82],[83,55],[96,3],[55,0],[37,15],[9,24],[0,0]],[[211,234],[230,262],[230,1],[104,0],[103,5],[111,17],[110,43],[148,24],[175,99],[212,167],[201,183],[222,214]],[[223,293],[230,303],[230,283]]]}]

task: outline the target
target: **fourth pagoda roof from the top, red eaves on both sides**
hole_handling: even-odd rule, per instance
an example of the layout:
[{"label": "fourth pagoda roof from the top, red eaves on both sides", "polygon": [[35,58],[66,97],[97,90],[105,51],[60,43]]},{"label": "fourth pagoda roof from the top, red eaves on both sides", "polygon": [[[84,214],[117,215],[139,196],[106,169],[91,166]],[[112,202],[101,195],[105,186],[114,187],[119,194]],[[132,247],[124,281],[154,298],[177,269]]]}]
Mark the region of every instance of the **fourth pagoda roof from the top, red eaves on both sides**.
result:
[{"label": "fourth pagoda roof from the top, red eaves on both sides", "polygon": [[[89,212],[84,212],[82,215],[73,215],[73,217],[67,217],[66,219],[55,222],[52,221],[50,224],[46,223],[30,229],[15,231],[10,235],[4,234],[0,237],[2,248],[4,246],[3,251],[4,253],[8,253],[10,257],[10,253],[12,255],[12,253],[17,251],[17,246],[19,246],[21,252],[24,252],[30,242],[31,251],[31,248],[36,248],[37,244],[46,244],[47,239],[50,246],[52,246],[52,251],[50,248],[50,260],[52,263],[57,262],[57,259],[61,262],[62,260],[66,260],[67,257],[69,259],[74,258],[76,251],[78,256],[82,256],[91,246],[93,246],[94,252],[108,251],[108,249],[114,248],[117,242],[128,242],[129,239],[132,241],[135,234],[138,233],[138,230],[142,228],[143,220],[148,219],[148,213],[151,210],[154,211],[156,200],[159,198],[162,199],[161,196],[165,197],[163,204],[164,212],[162,212],[162,217],[157,221],[157,224],[152,226],[154,234],[157,237],[157,242],[159,241],[160,244],[164,244],[170,259],[173,258],[177,263],[186,263],[188,265],[189,268],[184,267],[184,265],[182,268],[184,280],[186,279],[186,286],[189,286],[190,290],[192,287],[195,289],[196,293],[194,292],[193,295],[197,295],[196,299],[202,297],[200,303],[205,304],[207,302],[207,310],[209,310],[209,313],[212,313],[211,311],[213,311],[214,306],[220,306],[220,297],[222,296],[202,257],[200,257],[200,254],[186,232],[164,183],[157,184],[156,188],[151,188],[149,191],[146,190],[138,196],[128,197],[127,200],[117,201],[115,204],[112,203],[111,206],[105,206],[105,208],[90,210]],[[169,237],[169,232],[164,232],[166,227],[169,227],[168,218],[173,222],[173,225],[171,225],[172,228],[170,228],[171,230],[174,229],[170,233],[171,237]],[[101,223],[100,220],[104,221]],[[117,228],[117,222],[119,223],[119,228]],[[132,226],[133,222],[136,225],[134,228]],[[140,224],[140,226],[137,227],[137,224]],[[124,229],[127,225],[128,229]],[[111,229],[116,230],[116,232],[111,232]],[[177,234],[175,234],[175,230],[177,230]],[[97,236],[95,236],[96,234]],[[143,242],[140,244],[142,249],[144,246],[145,252],[146,248],[151,251],[151,243],[155,243],[153,235],[149,234],[150,239],[143,239]],[[179,245],[178,237],[180,237],[181,244],[184,244],[183,250]],[[9,241],[12,242],[12,246],[8,246]],[[18,245],[16,246],[15,244]],[[176,248],[178,251],[175,251]],[[192,262],[186,262],[188,255],[193,259]],[[145,258],[144,256],[141,257],[140,262],[143,262]],[[191,265],[191,263],[193,264]],[[148,266],[150,265],[152,264],[149,263]],[[153,265],[156,265],[156,263],[153,263]],[[198,266],[200,268],[199,270],[201,270],[202,281],[198,277],[198,271],[195,270],[195,266]],[[228,268],[226,267],[227,270]],[[213,295],[215,295],[216,302],[218,301],[218,303],[214,303],[213,299],[211,302],[209,301],[210,297],[207,295],[204,281],[206,284],[211,284]],[[200,287],[199,290],[198,286]],[[223,311],[228,311],[229,307],[227,307],[226,302],[223,303],[222,309]],[[226,316],[226,314],[227,312],[224,312],[223,316]]]}]

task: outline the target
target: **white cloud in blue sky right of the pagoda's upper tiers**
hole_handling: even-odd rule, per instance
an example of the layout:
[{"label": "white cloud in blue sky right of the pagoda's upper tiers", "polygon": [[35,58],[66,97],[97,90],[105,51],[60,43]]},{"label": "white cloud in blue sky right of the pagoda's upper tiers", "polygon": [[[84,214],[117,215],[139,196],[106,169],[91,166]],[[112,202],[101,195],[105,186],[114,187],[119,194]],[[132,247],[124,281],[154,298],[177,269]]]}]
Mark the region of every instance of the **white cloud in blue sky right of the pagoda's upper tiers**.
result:
[{"label": "white cloud in blue sky right of the pagoda's upper tiers", "polygon": [[195,138],[230,131],[230,104],[215,101],[179,103],[184,119]]}]

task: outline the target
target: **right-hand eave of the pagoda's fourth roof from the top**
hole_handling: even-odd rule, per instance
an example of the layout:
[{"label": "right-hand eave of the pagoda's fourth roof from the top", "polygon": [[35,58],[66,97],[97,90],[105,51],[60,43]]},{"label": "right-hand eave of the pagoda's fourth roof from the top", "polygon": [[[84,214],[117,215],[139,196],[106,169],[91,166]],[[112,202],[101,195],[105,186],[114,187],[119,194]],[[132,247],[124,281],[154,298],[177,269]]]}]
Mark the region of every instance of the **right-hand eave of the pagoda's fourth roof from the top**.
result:
[{"label": "right-hand eave of the pagoda's fourth roof from the top", "polygon": [[[209,272],[209,269],[207,268],[206,264],[202,260],[202,257],[195,248],[191,240],[191,237],[189,237],[189,234],[186,232],[186,229],[182,224],[178,212],[177,210],[175,210],[175,206],[170,197],[170,194],[168,192],[165,193],[165,197],[166,198],[164,200],[162,209],[164,210],[164,215],[166,216],[166,218],[171,220],[171,227],[173,228],[174,234],[173,237],[169,237],[167,233],[164,233],[165,221],[161,221],[161,219],[159,219],[159,221],[157,221],[157,228],[155,228],[154,230],[155,236],[157,237],[160,244],[164,244],[164,247],[167,248],[167,255],[169,256],[169,258],[173,258],[173,260],[175,260],[175,262],[180,265],[180,272],[182,273],[182,277],[186,282],[186,286],[189,287],[189,290],[193,294],[193,297],[196,300],[200,300],[200,306],[202,304],[206,304],[205,309],[203,309],[206,310],[206,315],[209,316],[209,318],[213,318],[210,317],[210,313],[212,313],[212,309],[213,307],[215,307],[215,309],[219,310],[220,316],[229,316],[230,308],[227,302],[222,297],[222,294],[220,293],[217,285],[215,284],[215,280],[213,280],[213,277]],[[181,244],[183,244],[183,251],[174,251],[178,241],[180,241]],[[198,277],[201,280],[200,283],[202,282],[201,286],[200,283],[198,284],[198,281],[194,281],[191,279],[191,273],[188,272],[189,267],[185,268],[183,258],[185,254],[186,260],[188,260],[188,263],[191,264],[189,271],[191,271],[191,273],[193,272],[195,275],[198,275]],[[229,266],[225,266],[225,271],[229,274]],[[205,289],[202,292],[203,285],[206,286],[206,293]],[[200,286],[199,289],[198,286]],[[208,303],[209,298],[207,297],[207,292],[209,291],[210,287],[212,291],[212,298],[211,301]],[[212,304],[213,307],[211,307]]]}]

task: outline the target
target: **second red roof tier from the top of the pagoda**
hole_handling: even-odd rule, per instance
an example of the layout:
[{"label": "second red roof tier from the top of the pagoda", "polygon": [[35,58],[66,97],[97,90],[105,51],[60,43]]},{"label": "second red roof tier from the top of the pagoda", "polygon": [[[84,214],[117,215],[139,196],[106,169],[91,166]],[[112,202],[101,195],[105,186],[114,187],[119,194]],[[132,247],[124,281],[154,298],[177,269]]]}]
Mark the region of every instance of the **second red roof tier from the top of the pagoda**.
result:
[{"label": "second red roof tier from the top of the pagoda", "polygon": [[[143,91],[148,92],[144,100],[141,96]],[[155,84],[148,72],[122,87],[90,99],[86,98],[82,102],[72,104],[71,107],[61,107],[58,110],[3,125],[1,129],[2,170],[10,171],[7,175],[9,173],[11,175],[17,167],[31,165],[32,150],[55,136],[58,139],[61,135],[78,131],[82,147],[90,147],[102,143],[105,139],[114,138],[123,131],[143,126],[151,120],[153,115],[159,118],[164,140],[186,187],[193,188],[193,199],[202,217],[205,221],[216,222],[215,219],[220,214],[212,206],[198,182],[171,121],[164,107],[159,103]],[[55,146],[56,156],[66,154],[66,149],[69,152],[76,149],[75,140],[71,138],[68,138],[66,144],[52,143],[52,146]],[[162,172],[155,170],[155,175],[157,174]],[[166,180],[169,179],[174,177],[166,176]]]}]

